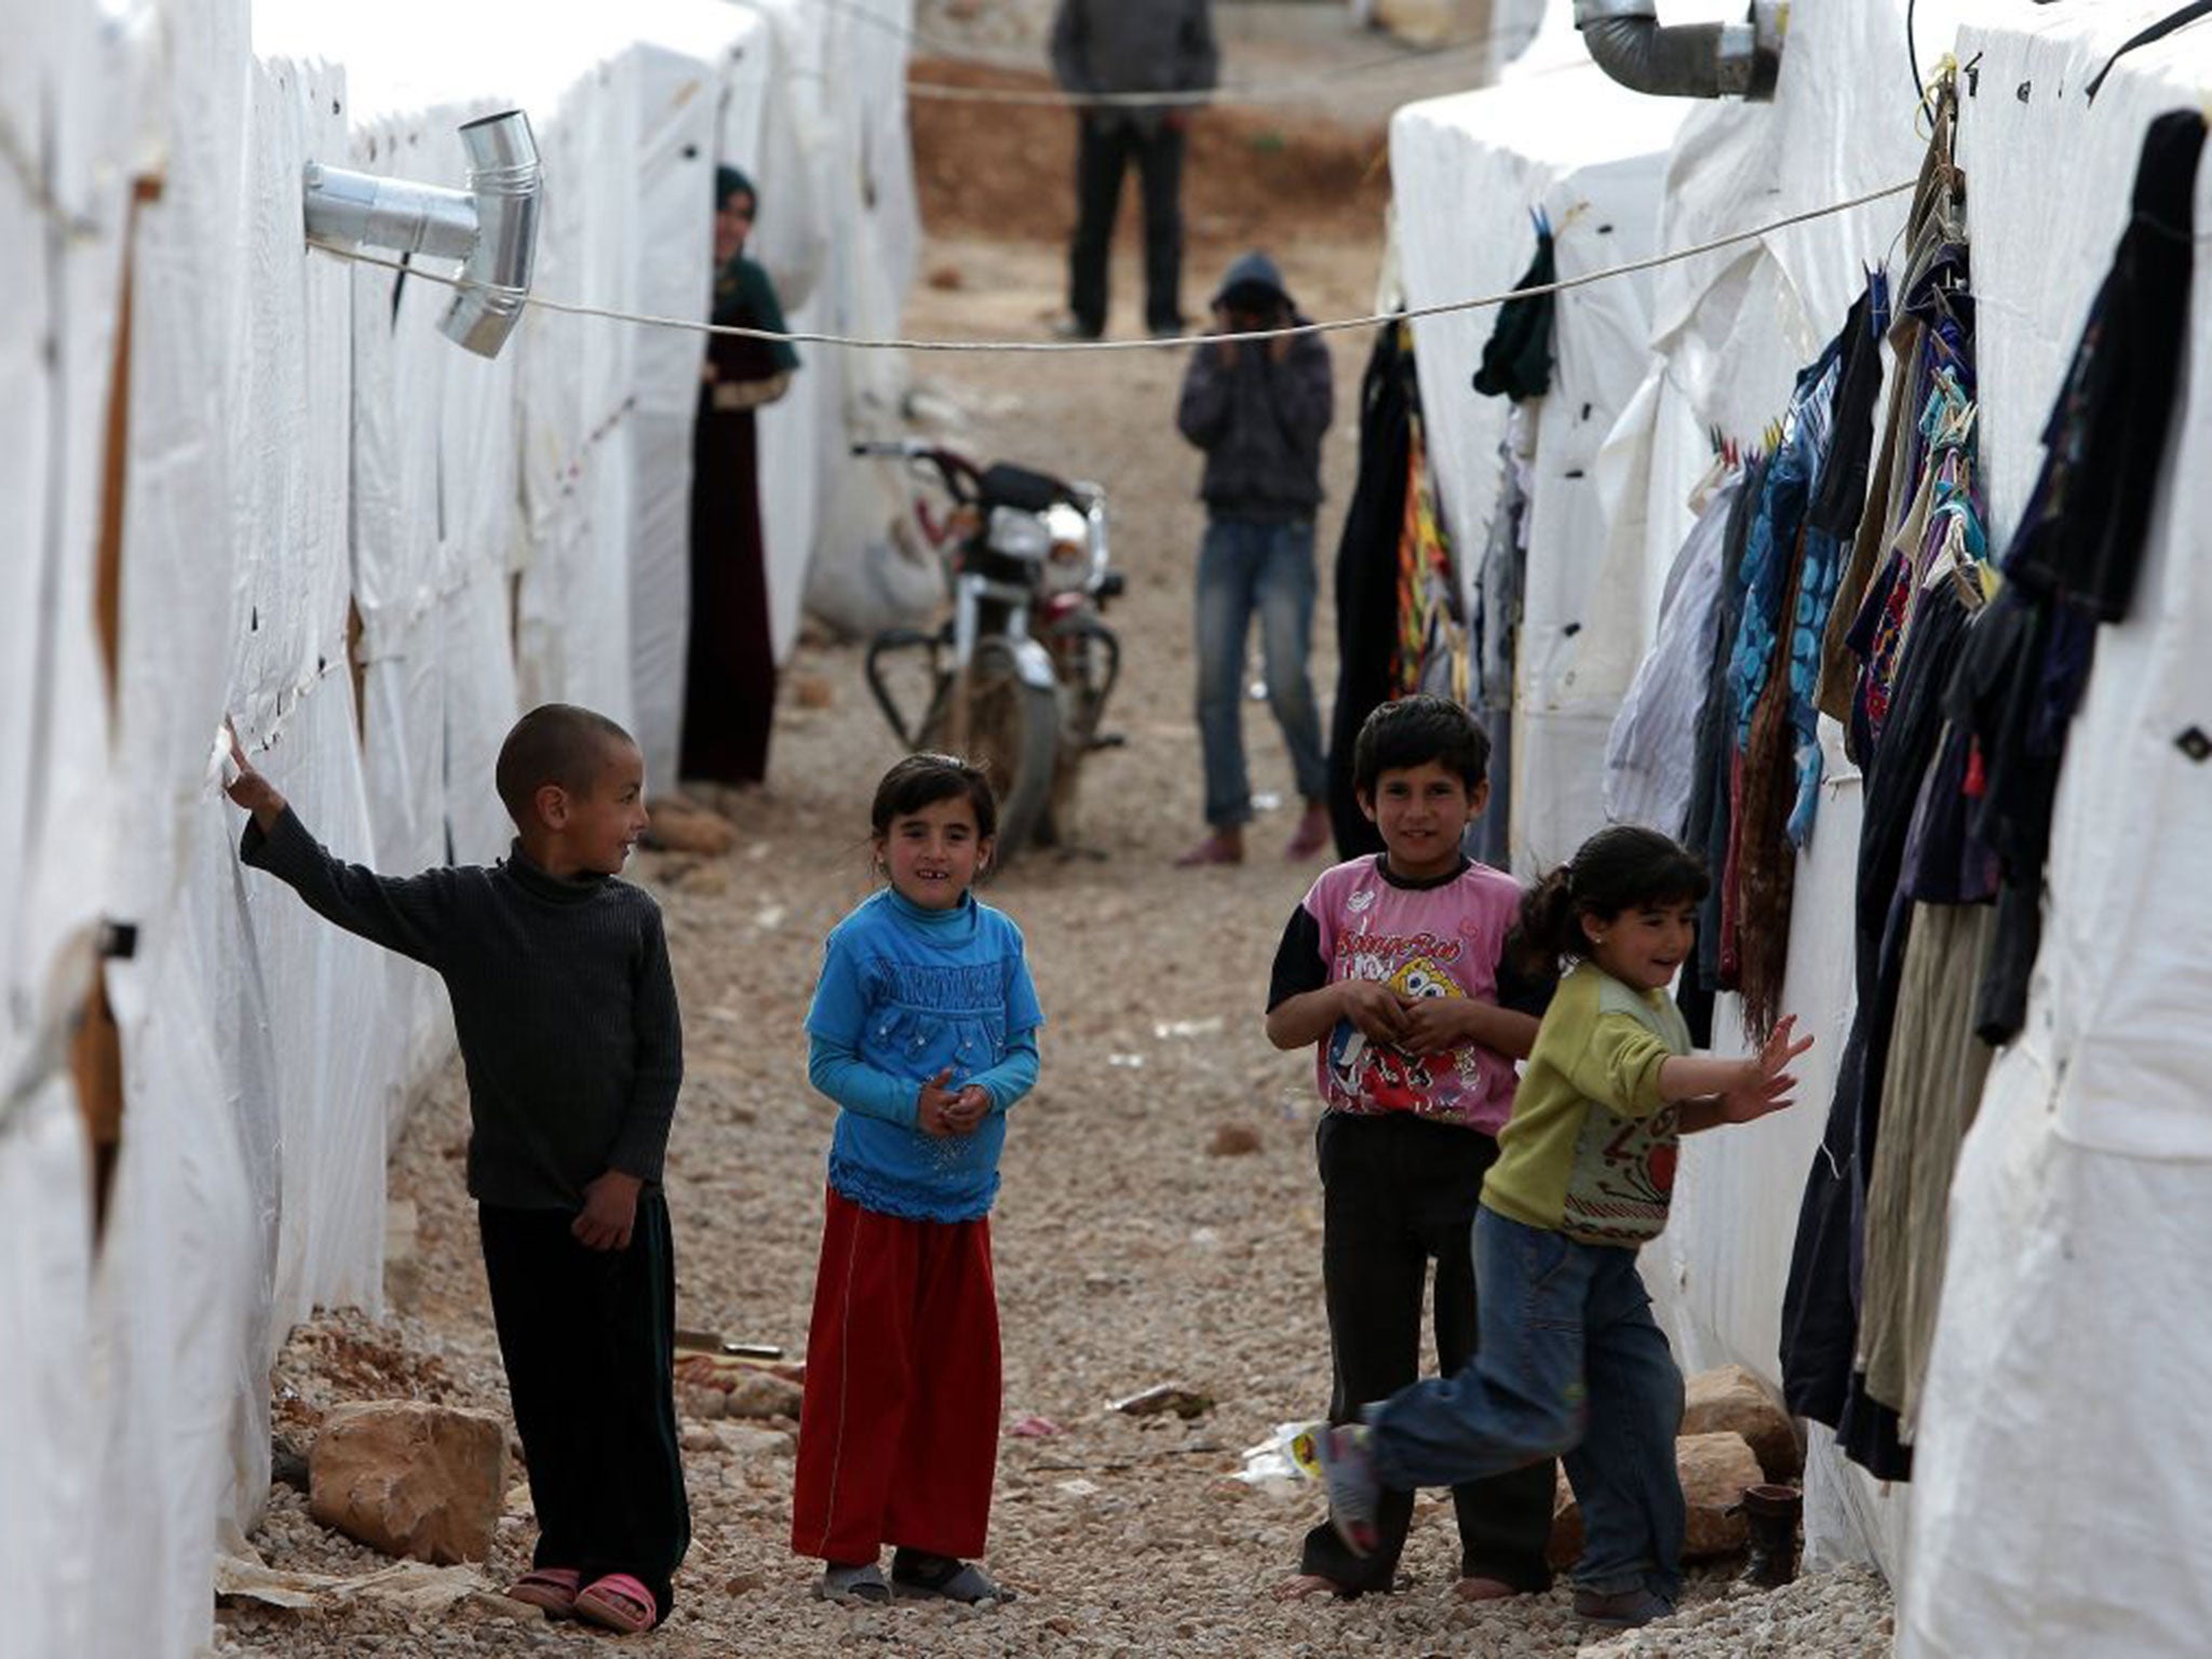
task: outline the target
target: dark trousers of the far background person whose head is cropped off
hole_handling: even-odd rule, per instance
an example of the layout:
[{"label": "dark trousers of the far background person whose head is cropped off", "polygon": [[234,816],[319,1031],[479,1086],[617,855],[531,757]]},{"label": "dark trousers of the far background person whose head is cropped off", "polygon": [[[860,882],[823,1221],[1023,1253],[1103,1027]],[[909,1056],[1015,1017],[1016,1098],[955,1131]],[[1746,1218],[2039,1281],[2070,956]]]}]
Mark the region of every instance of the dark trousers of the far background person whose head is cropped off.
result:
[{"label": "dark trousers of the far background person whose head is cropped off", "polygon": [[1121,206],[1121,175],[1137,164],[1144,199],[1144,325],[1183,327],[1183,131],[1175,117],[1082,115],[1075,135],[1075,243],[1068,312],[1079,334],[1106,332],[1106,254]]}]

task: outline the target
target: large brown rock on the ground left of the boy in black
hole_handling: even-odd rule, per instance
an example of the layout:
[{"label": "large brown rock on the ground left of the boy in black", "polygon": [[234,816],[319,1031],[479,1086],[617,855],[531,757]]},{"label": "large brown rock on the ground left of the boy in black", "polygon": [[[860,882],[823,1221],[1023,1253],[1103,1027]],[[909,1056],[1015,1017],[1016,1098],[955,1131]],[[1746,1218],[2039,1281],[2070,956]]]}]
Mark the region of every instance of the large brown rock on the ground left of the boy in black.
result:
[{"label": "large brown rock on the ground left of the boy in black", "polygon": [[385,1555],[482,1562],[507,1495],[507,1425],[420,1400],[341,1405],[307,1455],[307,1513]]}]

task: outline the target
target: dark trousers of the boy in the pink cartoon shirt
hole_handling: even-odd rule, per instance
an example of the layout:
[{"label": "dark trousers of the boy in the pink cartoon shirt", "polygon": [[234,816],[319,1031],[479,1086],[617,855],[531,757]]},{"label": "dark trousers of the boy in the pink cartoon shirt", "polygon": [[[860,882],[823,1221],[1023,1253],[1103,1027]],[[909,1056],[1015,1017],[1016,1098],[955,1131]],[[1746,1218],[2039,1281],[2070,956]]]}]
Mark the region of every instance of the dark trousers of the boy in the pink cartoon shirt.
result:
[{"label": "dark trousers of the boy in the pink cartoon shirt", "polygon": [[[1436,1261],[1436,1360],[1458,1376],[1475,1352],[1473,1225],[1498,1141],[1460,1124],[1409,1113],[1327,1113],[1321,1159],[1321,1283],[1329,1305],[1336,1383],[1329,1420],[1352,1422],[1420,1378],[1420,1294]],[[1460,1520],[1460,1577],[1548,1590],[1551,1504],[1557,1464],[1544,1460],[1451,1489]],[[1365,1559],[1323,1520],[1305,1535],[1301,1573],[1354,1590],[1389,1590],[1413,1520],[1413,1493],[1385,1491],[1380,1542]]]}]

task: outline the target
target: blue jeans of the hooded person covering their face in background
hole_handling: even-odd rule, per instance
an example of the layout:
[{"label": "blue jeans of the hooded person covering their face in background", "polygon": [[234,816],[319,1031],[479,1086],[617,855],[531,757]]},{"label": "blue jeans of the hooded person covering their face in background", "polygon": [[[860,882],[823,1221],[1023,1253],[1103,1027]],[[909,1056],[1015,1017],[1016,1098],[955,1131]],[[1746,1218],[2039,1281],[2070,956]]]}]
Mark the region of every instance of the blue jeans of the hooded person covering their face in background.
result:
[{"label": "blue jeans of the hooded person covering their face in background", "polygon": [[1243,757],[1245,639],[1259,611],[1267,706],[1290,745],[1298,794],[1323,801],[1329,770],[1305,657],[1314,635],[1314,522],[1261,524],[1217,518],[1199,546],[1199,745],[1206,752],[1206,823],[1252,818]]}]

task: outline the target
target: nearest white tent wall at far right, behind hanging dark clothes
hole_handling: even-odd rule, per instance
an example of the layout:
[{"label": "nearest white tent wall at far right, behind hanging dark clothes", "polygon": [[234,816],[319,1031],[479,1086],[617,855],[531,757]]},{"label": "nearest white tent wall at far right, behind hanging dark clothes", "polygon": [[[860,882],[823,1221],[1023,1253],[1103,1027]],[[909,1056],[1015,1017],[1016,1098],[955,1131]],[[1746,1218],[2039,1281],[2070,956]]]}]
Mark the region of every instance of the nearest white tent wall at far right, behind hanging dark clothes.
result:
[{"label": "nearest white tent wall at far right, behind hanging dark clothes", "polygon": [[[2201,108],[2183,31],[2079,88],[2141,18],[1993,18],[1960,108],[1971,186],[1991,529],[2002,546],[2039,425],[2126,223],[2152,117]],[[2064,234],[2053,237],[2053,226]],[[2212,223],[2212,170],[2197,226]],[[2046,929],[2020,1040],[1997,1057],[1951,1188],[1942,1323],[1922,1402],[1900,1655],[2203,1652],[2212,1582],[2212,1259],[2203,1011],[2212,920],[2190,872],[2205,770],[2174,739],[2212,710],[2212,272],[2199,239],[2174,436],[2128,619],[2059,776]]]}]

